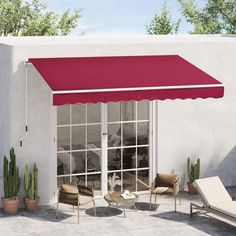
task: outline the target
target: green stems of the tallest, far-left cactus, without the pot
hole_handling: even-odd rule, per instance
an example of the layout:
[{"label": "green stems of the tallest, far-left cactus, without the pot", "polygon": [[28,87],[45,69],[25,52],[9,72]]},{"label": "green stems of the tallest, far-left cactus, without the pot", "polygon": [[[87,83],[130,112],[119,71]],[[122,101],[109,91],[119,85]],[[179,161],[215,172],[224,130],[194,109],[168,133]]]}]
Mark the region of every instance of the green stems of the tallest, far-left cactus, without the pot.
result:
[{"label": "green stems of the tallest, far-left cactus, without the pot", "polygon": [[10,149],[10,162],[4,156],[3,161],[3,185],[4,198],[14,199],[18,197],[20,189],[19,167],[16,166],[16,155],[14,148]]}]

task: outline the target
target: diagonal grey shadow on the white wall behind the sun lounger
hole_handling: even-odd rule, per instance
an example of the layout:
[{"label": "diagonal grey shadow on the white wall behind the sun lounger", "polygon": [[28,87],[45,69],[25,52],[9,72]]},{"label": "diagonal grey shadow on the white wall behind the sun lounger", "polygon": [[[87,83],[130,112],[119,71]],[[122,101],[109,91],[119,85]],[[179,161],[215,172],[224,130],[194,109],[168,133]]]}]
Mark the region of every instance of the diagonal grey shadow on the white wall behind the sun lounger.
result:
[{"label": "diagonal grey shadow on the white wall behind the sun lounger", "polygon": [[217,175],[225,186],[236,186],[236,145],[215,168],[213,165],[214,157],[206,169],[207,176]]}]

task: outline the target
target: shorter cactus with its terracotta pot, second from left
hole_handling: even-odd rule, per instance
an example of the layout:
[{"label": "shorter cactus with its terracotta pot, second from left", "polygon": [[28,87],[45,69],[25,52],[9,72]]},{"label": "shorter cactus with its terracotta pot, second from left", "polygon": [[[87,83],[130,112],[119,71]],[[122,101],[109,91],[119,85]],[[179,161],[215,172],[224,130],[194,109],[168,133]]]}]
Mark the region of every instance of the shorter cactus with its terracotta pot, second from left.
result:
[{"label": "shorter cactus with its terracotta pot, second from left", "polygon": [[24,189],[25,189],[25,208],[27,211],[35,212],[38,209],[38,168],[36,163],[33,165],[32,172],[30,172],[28,165],[25,166],[24,171]]}]

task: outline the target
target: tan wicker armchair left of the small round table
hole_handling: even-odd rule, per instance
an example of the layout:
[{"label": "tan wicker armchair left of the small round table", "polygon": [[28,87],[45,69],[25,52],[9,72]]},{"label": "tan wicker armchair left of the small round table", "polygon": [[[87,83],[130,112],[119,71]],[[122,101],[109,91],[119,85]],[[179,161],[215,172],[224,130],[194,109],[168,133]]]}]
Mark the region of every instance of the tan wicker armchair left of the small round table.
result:
[{"label": "tan wicker armchair left of the small round table", "polygon": [[58,190],[56,218],[58,217],[59,203],[64,203],[73,206],[73,209],[74,206],[78,207],[78,223],[79,223],[79,206],[84,205],[91,201],[93,202],[94,215],[96,215],[93,188],[77,184],[75,185],[72,183],[63,184],[60,186]]}]

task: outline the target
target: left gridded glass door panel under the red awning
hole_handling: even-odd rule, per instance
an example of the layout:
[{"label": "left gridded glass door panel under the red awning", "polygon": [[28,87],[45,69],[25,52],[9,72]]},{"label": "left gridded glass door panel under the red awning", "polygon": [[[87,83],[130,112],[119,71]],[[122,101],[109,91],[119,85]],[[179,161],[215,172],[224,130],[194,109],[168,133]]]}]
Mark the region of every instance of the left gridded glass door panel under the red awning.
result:
[{"label": "left gridded glass door panel under the red awning", "polygon": [[57,108],[57,185],[75,181],[101,194],[101,104]]}]

